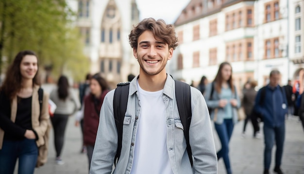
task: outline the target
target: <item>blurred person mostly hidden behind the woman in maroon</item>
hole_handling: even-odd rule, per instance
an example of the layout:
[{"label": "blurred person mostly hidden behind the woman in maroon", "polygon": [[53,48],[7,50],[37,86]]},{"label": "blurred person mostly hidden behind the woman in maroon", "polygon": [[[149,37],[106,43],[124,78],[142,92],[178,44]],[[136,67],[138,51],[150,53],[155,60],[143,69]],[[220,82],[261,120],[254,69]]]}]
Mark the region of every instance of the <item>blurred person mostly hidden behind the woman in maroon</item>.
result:
[{"label": "blurred person mostly hidden behind the woman in maroon", "polygon": [[[83,106],[84,96],[86,96],[90,93],[91,78],[92,78],[92,75],[90,73],[87,73],[85,75],[85,82],[79,85],[79,98],[80,98],[81,106]],[[80,111],[79,114],[83,114],[83,111]],[[80,150],[80,153],[86,153],[86,147],[84,145],[84,119],[83,119],[83,116],[82,116],[82,119],[80,120],[80,129],[81,129],[81,134],[82,134],[82,148]]]}]

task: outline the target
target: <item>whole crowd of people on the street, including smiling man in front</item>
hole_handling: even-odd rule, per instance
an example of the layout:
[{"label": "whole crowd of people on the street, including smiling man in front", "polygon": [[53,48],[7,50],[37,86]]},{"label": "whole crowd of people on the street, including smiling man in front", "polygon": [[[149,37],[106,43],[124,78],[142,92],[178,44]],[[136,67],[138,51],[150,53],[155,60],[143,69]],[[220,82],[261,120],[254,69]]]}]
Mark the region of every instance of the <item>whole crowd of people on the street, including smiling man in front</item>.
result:
[{"label": "whole crowd of people on the street, including smiling man in front", "polygon": [[[178,46],[173,25],[143,19],[131,31],[129,42],[140,68],[139,75],[128,76],[129,83],[119,84],[127,86],[128,97],[125,105],[119,105],[126,109],[120,117],[113,105],[122,95],[116,96],[116,90],[110,90],[99,73],[86,75],[79,96],[65,75],[59,77],[50,95],[41,95],[36,54],[21,51],[16,55],[0,87],[0,174],[13,174],[17,159],[18,174],[34,173],[49,122],[55,161],[63,165],[65,132],[72,115],[82,130],[81,153],[87,155],[90,174],[111,173],[113,164],[116,174],[217,174],[221,159],[227,174],[232,174],[229,142],[240,107],[246,116],[244,137],[251,121],[253,137],[261,138],[259,122],[264,122],[264,174],[270,173],[274,144],[273,171],[283,174],[285,120],[298,115],[304,127],[304,69],[295,73],[293,86],[288,81],[281,87],[280,71],[271,70],[265,87],[255,90],[257,83],[250,81],[238,94],[232,66],[223,62],[212,81],[203,76],[197,87],[192,83],[178,93],[177,82],[166,71]],[[191,95],[189,100],[187,95]],[[183,108],[180,97],[188,103]],[[57,106],[51,117],[49,100]],[[190,119],[181,116],[183,111]],[[218,151],[211,123],[220,139]]]}]

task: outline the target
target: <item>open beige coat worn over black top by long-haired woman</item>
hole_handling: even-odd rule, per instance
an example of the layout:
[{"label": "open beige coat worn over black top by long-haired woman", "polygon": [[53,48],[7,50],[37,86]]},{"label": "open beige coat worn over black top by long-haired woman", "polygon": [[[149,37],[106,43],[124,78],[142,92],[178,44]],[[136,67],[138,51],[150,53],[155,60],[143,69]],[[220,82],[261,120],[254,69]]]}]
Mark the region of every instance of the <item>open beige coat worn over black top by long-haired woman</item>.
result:
[{"label": "open beige coat worn over black top by long-haired woman", "polygon": [[[40,105],[38,99],[38,89],[39,86],[35,85],[33,89],[33,96],[32,96],[32,127],[34,131],[38,135],[38,140],[36,144],[38,147],[45,144],[45,140],[43,136],[45,135],[48,124],[50,123],[50,115],[49,115],[49,95],[45,92],[43,93],[43,103],[41,109],[41,116],[40,116]],[[13,99],[11,103],[11,120],[15,122],[17,114],[17,96]],[[40,117],[39,117],[40,116]],[[4,131],[0,128],[0,149],[2,148],[4,137]]]}]

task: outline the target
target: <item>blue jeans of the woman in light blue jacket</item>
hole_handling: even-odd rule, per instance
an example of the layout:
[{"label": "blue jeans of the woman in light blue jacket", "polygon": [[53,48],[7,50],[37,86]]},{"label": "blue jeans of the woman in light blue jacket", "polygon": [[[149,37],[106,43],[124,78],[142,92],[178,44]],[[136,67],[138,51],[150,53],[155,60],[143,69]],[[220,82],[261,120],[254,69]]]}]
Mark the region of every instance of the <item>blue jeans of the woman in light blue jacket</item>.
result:
[{"label": "blue jeans of the woman in light blue jacket", "polygon": [[233,132],[233,121],[232,119],[224,119],[224,122],[221,124],[214,123],[215,129],[218,132],[221,149],[217,153],[218,160],[223,157],[227,174],[231,174],[230,160],[229,160],[229,141]]}]

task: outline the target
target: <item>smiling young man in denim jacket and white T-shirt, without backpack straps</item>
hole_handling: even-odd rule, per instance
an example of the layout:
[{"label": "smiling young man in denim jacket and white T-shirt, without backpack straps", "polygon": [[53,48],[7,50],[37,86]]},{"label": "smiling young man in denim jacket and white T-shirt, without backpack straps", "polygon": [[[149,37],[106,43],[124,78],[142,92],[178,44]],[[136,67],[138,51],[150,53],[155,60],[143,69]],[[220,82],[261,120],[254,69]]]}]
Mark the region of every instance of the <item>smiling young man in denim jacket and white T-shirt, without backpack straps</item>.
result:
[{"label": "smiling young man in denim jacket and white T-shirt, without backpack straps", "polygon": [[[175,82],[166,64],[177,47],[173,25],[143,19],[129,35],[140,70],[130,83],[123,121],[122,147],[114,174],[217,174],[212,127],[202,93],[191,87],[192,118],[186,150]],[[104,98],[90,174],[110,174],[118,149],[113,111],[114,90]]]}]

